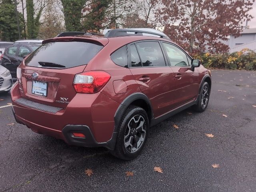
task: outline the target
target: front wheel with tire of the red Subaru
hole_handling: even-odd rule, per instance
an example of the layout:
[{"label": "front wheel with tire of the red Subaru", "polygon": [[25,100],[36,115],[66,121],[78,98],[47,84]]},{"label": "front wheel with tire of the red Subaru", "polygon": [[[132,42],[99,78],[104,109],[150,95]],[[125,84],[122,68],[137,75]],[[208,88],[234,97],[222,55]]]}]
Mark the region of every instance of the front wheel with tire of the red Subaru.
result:
[{"label": "front wheel with tire of the red Subaru", "polygon": [[193,109],[197,112],[204,112],[208,106],[209,97],[210,97],[210,86],[207,82],[204,82],[198,96],[198,102],[196,105],[193,106]]}]

